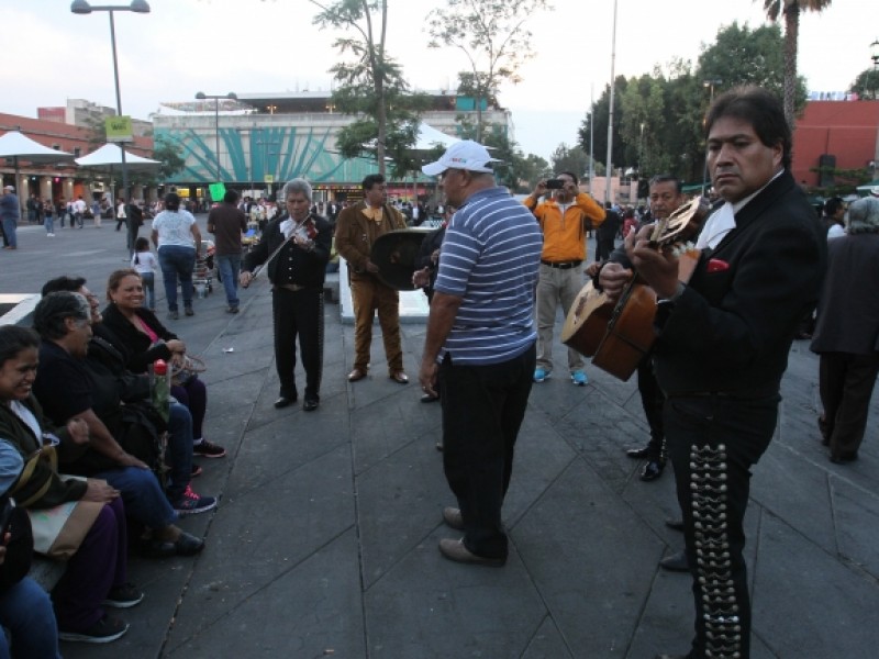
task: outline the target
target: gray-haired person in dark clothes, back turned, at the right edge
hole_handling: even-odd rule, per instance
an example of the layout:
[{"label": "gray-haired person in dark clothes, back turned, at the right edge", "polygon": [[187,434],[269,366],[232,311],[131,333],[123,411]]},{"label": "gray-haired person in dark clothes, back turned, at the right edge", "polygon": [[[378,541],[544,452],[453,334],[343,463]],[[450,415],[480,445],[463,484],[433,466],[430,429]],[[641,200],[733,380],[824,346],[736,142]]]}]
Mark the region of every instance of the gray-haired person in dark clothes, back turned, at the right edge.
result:
[{"label": "gray-haired person in dark clothes, back turned, at the right edge", "polygon": [[822,443],[832,462],[857,460],[879,375],[879,199],[848,206],[846,235],[827,244],[812,351],[821,356]]}]

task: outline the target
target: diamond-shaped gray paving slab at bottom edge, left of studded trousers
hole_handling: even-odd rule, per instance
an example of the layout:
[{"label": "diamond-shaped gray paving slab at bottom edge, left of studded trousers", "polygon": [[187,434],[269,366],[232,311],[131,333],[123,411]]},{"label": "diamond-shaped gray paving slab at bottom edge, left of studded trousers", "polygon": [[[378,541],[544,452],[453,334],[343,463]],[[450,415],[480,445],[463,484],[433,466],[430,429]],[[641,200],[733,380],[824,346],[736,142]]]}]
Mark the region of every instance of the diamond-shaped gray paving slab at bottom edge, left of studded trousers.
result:
[{"label": "diamond-shaped gray paving slab at bottom edge, left of studded trousers", "polygon": [[522,560],[580,657],[625,657],[663,543],[583,461],[513,529]]}]

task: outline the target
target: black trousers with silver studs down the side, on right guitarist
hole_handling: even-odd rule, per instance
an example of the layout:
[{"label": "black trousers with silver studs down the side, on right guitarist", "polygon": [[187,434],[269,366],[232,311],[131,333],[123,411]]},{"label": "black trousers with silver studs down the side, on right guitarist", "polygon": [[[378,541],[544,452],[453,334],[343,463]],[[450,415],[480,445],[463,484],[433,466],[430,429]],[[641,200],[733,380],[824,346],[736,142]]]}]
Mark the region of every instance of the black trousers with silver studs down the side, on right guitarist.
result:
[{"label": "black trousers with silver studs down the side, on right guitarist", "polygon": [[693,576],[696,659],[750,656],[743,521],[750,467],[772,438],[779,400],[778,394],[755,400],[706,394],[666,401],[666,434]]}]

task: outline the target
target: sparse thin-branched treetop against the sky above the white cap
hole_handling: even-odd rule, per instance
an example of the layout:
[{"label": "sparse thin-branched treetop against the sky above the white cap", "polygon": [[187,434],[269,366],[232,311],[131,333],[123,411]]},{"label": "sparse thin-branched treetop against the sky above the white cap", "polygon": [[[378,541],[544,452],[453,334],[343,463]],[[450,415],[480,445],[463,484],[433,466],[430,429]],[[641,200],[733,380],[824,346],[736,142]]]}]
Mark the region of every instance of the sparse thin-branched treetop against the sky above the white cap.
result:
[{"label": "sparse thin-branched treetop against the sky above the white cap", "polygon": [[519,82],[519,69],[534,56],[525,22],[546,0],[446,0],[446,8],[427,14],[430,47],[453,46],[470,64],[459,74],[459,93],[476,99],[476,135],[482,142],[482,101],[497,102],[504,80]]}]

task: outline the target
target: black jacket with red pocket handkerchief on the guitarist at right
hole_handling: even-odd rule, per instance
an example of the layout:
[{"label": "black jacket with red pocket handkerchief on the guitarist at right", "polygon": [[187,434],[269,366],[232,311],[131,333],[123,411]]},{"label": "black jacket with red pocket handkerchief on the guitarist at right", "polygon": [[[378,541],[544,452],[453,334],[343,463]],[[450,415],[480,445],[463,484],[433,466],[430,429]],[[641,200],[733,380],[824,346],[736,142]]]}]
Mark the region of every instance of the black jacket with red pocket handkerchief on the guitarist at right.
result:
[{"label": "black jacket with red pocket handkerchief on the guitarist at right", "polygon": [[790,172],[735,222],[714,249],[702,250],[654,346],[667,394],[778,393],[797,325],[817,300],[827,242]]}]

